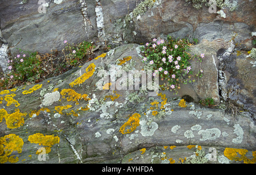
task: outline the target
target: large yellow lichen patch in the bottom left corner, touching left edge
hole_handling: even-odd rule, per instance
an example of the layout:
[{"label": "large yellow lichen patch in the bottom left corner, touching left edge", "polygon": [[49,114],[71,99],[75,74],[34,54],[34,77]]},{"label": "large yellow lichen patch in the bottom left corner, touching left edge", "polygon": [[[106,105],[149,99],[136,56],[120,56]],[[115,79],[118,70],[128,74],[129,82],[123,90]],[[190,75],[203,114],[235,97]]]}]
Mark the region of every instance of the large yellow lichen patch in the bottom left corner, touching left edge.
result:
[{"label": "large yellow lichen patch in the bottom left corner, touching left edge", "polygon": [[10,163],[18,162],[18,157],[15,157],[14,159],[14,155],[10,155],[13,151],[21,153],[23,144],[24,142],[22,138],[19,138],[19,136],[15,134],[9,134],[0,138],[0,163],[4,164],[7,161],[9,161]]}]

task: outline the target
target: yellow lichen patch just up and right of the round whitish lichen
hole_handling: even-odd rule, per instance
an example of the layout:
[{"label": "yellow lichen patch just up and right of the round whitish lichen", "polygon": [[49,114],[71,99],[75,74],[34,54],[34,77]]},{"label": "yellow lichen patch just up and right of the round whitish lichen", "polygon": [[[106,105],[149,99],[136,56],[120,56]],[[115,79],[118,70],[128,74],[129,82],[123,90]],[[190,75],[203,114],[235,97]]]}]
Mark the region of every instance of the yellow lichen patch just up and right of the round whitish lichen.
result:
[{"label": "yellow lichen patch just up and right of the round whitish lichen", "polygon": [[87,94],[81,95],[79,93],[76,93],[76,91],[73,89],[63,89],[63,90],[61,90],[60,94],[63,96],[68,95],[67,101],[68,102],[70,102],[70,101],[76,102],[76,105],[79,104],[78,102],[81,98],[83,98],[86,101],[90,100],[90,98],[88,98]]}]

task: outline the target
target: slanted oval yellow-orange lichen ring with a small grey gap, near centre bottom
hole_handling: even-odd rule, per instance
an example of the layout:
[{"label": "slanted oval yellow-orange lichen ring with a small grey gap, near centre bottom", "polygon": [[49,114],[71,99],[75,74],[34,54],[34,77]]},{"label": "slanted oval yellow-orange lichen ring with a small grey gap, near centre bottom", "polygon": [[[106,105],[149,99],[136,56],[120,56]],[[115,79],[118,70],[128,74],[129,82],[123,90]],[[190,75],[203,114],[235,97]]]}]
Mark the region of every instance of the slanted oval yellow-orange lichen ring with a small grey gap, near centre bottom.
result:
[{"label": "slanted oval yellow-orange lichen ring with a small grey gap, near centre bottom", "polygon": [[[129,134],[133,132],[137,128],[137,126],[139,126],[140,117],[141,115],[139,115],[138,113],[135,113],[132,116],[130,116],[128,121],[120,127],[119,132],[121,132],[122,134]],[[127,126],[130,126],[130,128],[125,130]]]}]

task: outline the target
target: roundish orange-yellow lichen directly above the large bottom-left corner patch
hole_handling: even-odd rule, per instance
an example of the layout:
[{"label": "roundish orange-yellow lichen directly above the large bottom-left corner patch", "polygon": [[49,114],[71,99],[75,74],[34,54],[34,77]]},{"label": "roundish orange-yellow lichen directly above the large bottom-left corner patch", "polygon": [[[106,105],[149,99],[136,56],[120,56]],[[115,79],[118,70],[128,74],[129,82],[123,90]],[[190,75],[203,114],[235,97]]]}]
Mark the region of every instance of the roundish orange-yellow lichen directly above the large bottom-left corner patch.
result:
[{"label": "roundish orange-yellow lichen directly above the large bottom-left corner patch", "polygon": [[24,118],[23,116],[26,116],[26,113],[20,113],[19,109],[15,110],[15,113],[9,114],[5,116],[6,125],[7,128],[13,129],[18,128],[20,126],[23,126],[24,124]]}]

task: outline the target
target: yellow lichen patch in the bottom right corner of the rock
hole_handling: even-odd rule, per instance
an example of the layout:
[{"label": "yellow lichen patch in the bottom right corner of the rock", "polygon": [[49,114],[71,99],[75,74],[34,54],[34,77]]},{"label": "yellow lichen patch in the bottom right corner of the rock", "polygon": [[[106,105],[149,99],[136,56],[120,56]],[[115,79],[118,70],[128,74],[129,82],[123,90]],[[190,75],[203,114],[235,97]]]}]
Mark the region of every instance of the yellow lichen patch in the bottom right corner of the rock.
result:
[{"label": "yellow lichen patch in the bottom right corner of the rock", "polygon": [[[225,148],[224,156],[229,160],[242,161],[245,164],[254,164],[256,162],[256,151],[253,151],[253,159],[248,159],[245,155],[248,152],[247,149]],[[239,153],[240,155],[237,155]]]}]

